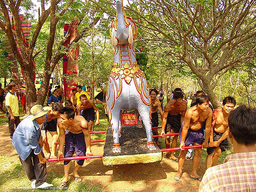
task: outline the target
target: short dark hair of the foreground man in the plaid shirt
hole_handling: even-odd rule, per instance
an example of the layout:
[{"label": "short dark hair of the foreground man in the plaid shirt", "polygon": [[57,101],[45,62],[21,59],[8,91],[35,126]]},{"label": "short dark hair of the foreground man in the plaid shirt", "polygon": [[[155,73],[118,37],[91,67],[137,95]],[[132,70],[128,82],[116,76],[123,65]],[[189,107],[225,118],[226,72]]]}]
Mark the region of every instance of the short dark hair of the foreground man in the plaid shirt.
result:
[{"label": "short dark hair of the foreground man in the plaid shirt", "polygon": [[254,145],[256,143],[256,109],[239,106],[228,116],[229,130],[240,144]]}]

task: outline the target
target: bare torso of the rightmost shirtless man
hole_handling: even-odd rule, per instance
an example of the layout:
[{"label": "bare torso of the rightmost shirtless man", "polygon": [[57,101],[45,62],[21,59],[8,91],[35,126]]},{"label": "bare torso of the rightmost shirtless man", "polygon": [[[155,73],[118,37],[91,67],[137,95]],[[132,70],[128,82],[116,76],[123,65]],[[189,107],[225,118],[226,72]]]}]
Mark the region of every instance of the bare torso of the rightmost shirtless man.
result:
[{"label": "bare torso of the rightmost shirtless man", "polygon": [[217,133],[224,133],[228,129],[228,116],[224,116],[222,109],[216,109],[212,113],[212,127]]}]

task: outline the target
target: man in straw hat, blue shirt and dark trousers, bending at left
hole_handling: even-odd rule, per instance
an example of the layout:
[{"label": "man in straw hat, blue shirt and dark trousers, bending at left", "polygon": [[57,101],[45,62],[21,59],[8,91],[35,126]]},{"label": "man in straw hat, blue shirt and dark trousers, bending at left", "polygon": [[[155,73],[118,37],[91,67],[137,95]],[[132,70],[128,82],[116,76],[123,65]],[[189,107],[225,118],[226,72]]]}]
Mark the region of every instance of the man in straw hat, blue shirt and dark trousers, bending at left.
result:
[{"label": "man in straw hat, blue shirt and dark trousers, bending at left", "polygon": [[46,158],[42,153],[40,130],[47,121],[48,109],[36,104],[31,109],[32,115],[26,117],[17,126],[13,134],[14,145],[25,173],[32,182],[32,188],[47,188],[53,186],[46,182]]}]

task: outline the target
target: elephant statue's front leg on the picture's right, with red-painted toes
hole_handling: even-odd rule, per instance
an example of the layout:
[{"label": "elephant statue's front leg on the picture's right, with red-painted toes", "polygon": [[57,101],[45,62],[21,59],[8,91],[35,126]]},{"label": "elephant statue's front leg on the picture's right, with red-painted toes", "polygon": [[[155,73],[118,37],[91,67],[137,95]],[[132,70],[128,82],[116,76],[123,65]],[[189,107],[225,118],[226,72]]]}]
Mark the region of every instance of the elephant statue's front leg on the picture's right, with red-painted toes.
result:
[{"label": "elephant statue's front leg on the picture's right, with red-painted toes", "polygon": [[156,150],[154,142],[152,141],[151,135],[151,119],[150,119],[150,106],[145,106],[138,109],[139,114],[142,118],[143,124],[145,125],[146,137],[147,137],[147,148],[148,150]]}]

